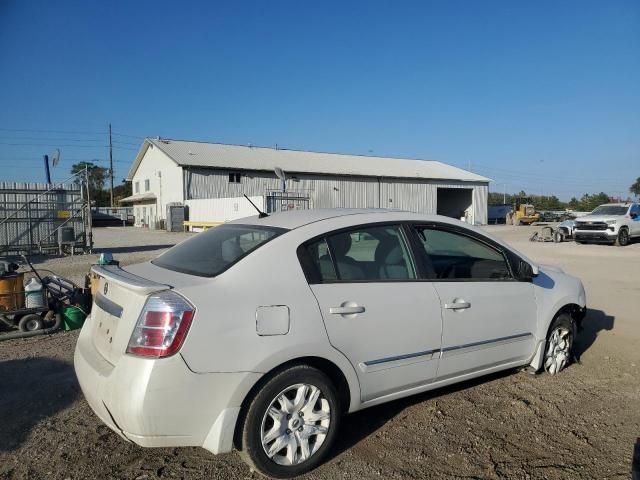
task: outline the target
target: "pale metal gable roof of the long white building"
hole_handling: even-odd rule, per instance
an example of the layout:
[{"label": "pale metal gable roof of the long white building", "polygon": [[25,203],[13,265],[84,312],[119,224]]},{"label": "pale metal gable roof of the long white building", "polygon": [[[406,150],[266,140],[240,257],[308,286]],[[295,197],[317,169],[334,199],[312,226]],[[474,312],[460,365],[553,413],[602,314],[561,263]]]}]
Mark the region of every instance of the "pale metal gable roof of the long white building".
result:
[{"label": "pale metal gable roof of the long white building", "polygon": [[129,170],[131,180],[145,153],[159,148],[170,159],[184,167],[209,167],[230,170],[258,170],[273,172],[275,167],[290,173],[356,175],[365,177],[420,178],[489,182],[482,175],[434,160],[343,155],[338,153],[306,152],[223,143],[204,143],[186,140],[146,138]]}]

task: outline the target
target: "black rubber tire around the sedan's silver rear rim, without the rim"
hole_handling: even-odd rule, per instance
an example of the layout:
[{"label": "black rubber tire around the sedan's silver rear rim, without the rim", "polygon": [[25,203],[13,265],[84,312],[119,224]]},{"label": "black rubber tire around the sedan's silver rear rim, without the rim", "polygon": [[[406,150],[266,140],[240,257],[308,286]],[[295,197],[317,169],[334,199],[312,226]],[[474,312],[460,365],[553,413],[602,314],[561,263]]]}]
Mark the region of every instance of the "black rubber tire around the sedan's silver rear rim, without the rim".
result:
[{"label": "black rubber tire around the sedan's silver rear rim, without the rim", "polygon": [[[267,410],[272,405],[281,405],[277,402],[277,398],[280,397],[283,392],[286,392],[287,389],[297,384],[315,386],[320,390],[320,398],[328,402],[330,420],[324,440],[322,440],[320,446],[307,460],[294,465],[281,465],[267,455],[267,452],[265,451],[266,447],[263,447],[262,445],[263,422],[267,422],[269,421],[269,418],[271,418],[267,415]],[[280,371],[269,378],[256,392],[251,403],[248,405],[246,414],[244,415],[242,437],[240,440],[241,445],[239,445],[240,456],[249,464],[250,467],[269,477],[291,478],[302,475],[316,468],[326,458],[327,453],[334,443],[341,414],[341,405],[338,401],[336,389],[329,377],[320,370],[308,365],[296,365],[287,368],[286,370]],[[296,415],[296,413],[288,415],[287,418],[284,419],[286,424],[283,425],[283,428],[287,426],[293,427],[293,425],[287,424],[295,422],[297,418]],[[295,418],[290,419],[291,417]],[[300,421],[300,418],[298,418],[297,421]],[[305,420],[303,421],[306,422]],[[297,425],[295,426],[297,427]],[[287,428],[286,434],[297,438],[296,432],[292,432],[289,428]],[[316,437],[316,441],[317,439],[318,437]],[[271,445],[275,445],[276,442],[277,440],[274,440]],[[296,443],[296,445],[298,444]],[[299,446],[296,448],[296,452],[302,452]],[[287,447],[283,446],[283,448],[278,452],[285,450],[288,451]],[[299,453],[294,453],[294,455],[297,456]],[[274,455],[274,458],[277,456],[278,455]]]}]

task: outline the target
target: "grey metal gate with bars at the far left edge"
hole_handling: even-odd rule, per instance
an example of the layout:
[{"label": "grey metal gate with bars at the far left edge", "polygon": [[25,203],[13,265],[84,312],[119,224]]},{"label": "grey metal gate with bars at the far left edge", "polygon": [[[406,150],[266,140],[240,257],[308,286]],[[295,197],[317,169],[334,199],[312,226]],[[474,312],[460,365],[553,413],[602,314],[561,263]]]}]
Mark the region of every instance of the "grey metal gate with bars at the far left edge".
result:
[{"label": "grey metal gate with bars at the far left edge", "polygon": [[57,252],[60,227],[73,228],[73,239],[64,241],[72,251],[90,248],[88,202],[82,192],[73,183],[0,182],[0,256]]}]

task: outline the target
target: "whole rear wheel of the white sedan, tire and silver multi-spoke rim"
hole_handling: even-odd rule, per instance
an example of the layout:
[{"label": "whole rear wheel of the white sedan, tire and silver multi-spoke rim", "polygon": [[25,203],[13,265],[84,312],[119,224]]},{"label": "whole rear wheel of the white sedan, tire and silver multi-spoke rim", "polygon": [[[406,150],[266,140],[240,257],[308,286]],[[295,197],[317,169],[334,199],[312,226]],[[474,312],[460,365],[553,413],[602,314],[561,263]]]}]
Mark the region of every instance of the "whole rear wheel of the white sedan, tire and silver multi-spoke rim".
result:
[{"label": "whole rear wheel of the white sedan, tire and silver multi-spoke rim", "polygon": [[320,370],[298,365],[256,393],[244,419],[240,454],[255,470],[291,478],[317,467],[335,439],[340,403]]}]

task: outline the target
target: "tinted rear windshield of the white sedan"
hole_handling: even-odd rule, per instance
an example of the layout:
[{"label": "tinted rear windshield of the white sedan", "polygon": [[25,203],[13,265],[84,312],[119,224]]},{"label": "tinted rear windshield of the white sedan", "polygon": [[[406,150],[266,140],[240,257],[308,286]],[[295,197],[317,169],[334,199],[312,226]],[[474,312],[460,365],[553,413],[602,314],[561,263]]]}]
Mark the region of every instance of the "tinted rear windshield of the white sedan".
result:
[{"label": "tinted rear windshield of the white sedan", "polygon": [[286,232],[283,228],[221,225],[167,250],[151,263],[200,277],[215,277]]}]

